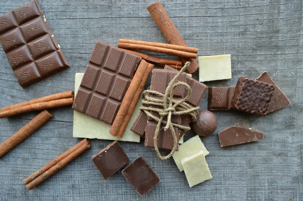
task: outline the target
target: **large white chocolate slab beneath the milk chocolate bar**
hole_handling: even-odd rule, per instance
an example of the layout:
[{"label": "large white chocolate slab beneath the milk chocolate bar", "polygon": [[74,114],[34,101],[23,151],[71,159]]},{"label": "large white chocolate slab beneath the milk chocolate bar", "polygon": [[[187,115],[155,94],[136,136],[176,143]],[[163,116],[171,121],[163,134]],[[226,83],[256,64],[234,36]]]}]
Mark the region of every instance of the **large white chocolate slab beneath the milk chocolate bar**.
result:
[{"label": "large white chocolate slab beneath the milk chocolate bar", "polygon": [[[83,78],[84,73],[76,73],[75,77],[75,96],[81,84],[81,80]],[[109,139],[109,140],[120,140],[120,141],[130,141],[130,142],[140,142],[140,135],[132,132],[130,130],[132,124],[139,116],[141,106],[140,97],[138,104],[134,110],[134,113],[127,125],[127,128],[124,132],[122,138],[115,137],[110,134],[111,124],[105,123],[101,120],[88,116],[84,113],[78,112],[74,110],[74,129],[73,129],[73,137],[81,137],[81,138],[90,138],[90,139]]]}]

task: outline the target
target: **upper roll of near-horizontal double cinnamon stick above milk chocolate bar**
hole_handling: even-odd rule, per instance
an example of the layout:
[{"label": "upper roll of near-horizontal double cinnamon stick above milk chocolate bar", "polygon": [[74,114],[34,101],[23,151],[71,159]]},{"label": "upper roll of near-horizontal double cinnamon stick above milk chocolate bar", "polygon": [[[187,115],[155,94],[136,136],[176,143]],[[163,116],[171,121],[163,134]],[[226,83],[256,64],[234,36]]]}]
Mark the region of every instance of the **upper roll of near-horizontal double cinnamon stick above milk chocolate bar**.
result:
[{"label": "upper roll of near-horizontal double cinnamon stick above milk chocolate bar", "polygon": [[175,49],[178,51],[188,52],[188,53],[198,53],[198,48],[195,47],[188,47],[182,45],[175,45],[175,44],[167,44],[167,43],[160,43],[160,42],[149,42],[149,41],[142,41],[142,40],[131,40],[131,39],[119,39],[121,43],[132,43],[132,44],[142,44],[154,47],[164,47],[168,49]]}]

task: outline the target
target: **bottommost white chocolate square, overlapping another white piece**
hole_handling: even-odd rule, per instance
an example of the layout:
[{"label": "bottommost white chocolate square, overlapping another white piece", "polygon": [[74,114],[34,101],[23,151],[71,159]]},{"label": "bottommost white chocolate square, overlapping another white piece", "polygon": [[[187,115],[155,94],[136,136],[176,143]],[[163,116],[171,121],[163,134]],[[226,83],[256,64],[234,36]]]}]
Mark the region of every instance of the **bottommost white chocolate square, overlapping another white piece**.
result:
[{"label": "bottommost white chocolate square, overlapping another white piece", "polygon": [[189,187],[213,178],[203,151],[181,160]]}]

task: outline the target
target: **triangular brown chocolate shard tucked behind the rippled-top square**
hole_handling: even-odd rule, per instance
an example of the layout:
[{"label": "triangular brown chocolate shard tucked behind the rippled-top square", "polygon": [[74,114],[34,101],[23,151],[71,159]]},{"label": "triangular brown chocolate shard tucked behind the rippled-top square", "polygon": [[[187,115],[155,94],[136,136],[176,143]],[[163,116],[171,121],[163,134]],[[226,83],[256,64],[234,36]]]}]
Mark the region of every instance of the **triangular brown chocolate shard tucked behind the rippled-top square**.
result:
[{"label": "triangular brown chocolate shard tucked behind the rippled-top square", "polygon": [[269,76],[269,74],[266,71],[264,73],[262,73],[259,77],[257,77],[256,80],[275,86],[275,91],[270,100],[270,104],[269,104],[267,113],[273,112],[275,110],[279,110],[290,104],[290,101],[287,98],[287,96],[274,83],[274,81],[271,79],[271,77]]}]

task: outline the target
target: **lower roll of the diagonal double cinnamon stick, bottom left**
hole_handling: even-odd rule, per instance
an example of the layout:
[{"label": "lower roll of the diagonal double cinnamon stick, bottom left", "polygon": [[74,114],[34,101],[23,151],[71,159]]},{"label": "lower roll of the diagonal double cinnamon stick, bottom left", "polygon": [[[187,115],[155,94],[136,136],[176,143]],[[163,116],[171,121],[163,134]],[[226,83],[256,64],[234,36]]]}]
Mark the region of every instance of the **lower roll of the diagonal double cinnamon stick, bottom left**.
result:
[{"label": "lower roll of the diagonal double cinnamon stick, bottom left", "polygon": [[[37,185],[39,185],[40,183],[42,183],[43,181],[45,181],[48,177],[50,177],[53,174],[55,174],[58,170],[60,170],[63,167],[65,167],[68,163],[70,163],[72,160],[74,160],[80,154],[82,154],[83,152],[85,152],[85,150],[90,147],[90,140],[89,139],[83,139],[82,141],[84,141],[85,143],[82,144],[76,150],[74,150],[74,152],[72,152],[71,154],[69,154],[67,157],[65,157],[64,159],[62,159],[60,162],[58,162],[56,165],[52,166],[47,171],[45,171],[44,173],[42,173],[40,176],[38,176],[37,178],[35,178],[33,181],[31,181],[28,184],[26,184],[26,188],[29,189],[29,190],[33,189],[34,187],[36,187]],[[79,143],[83,143],[83,142],[79,142]],[[77,146],[78,144],[76,144],[75,146]],[[65,153],[63,153],[63,154],[65,154]],[[52,163],[52,161],[50,163]]]}]

